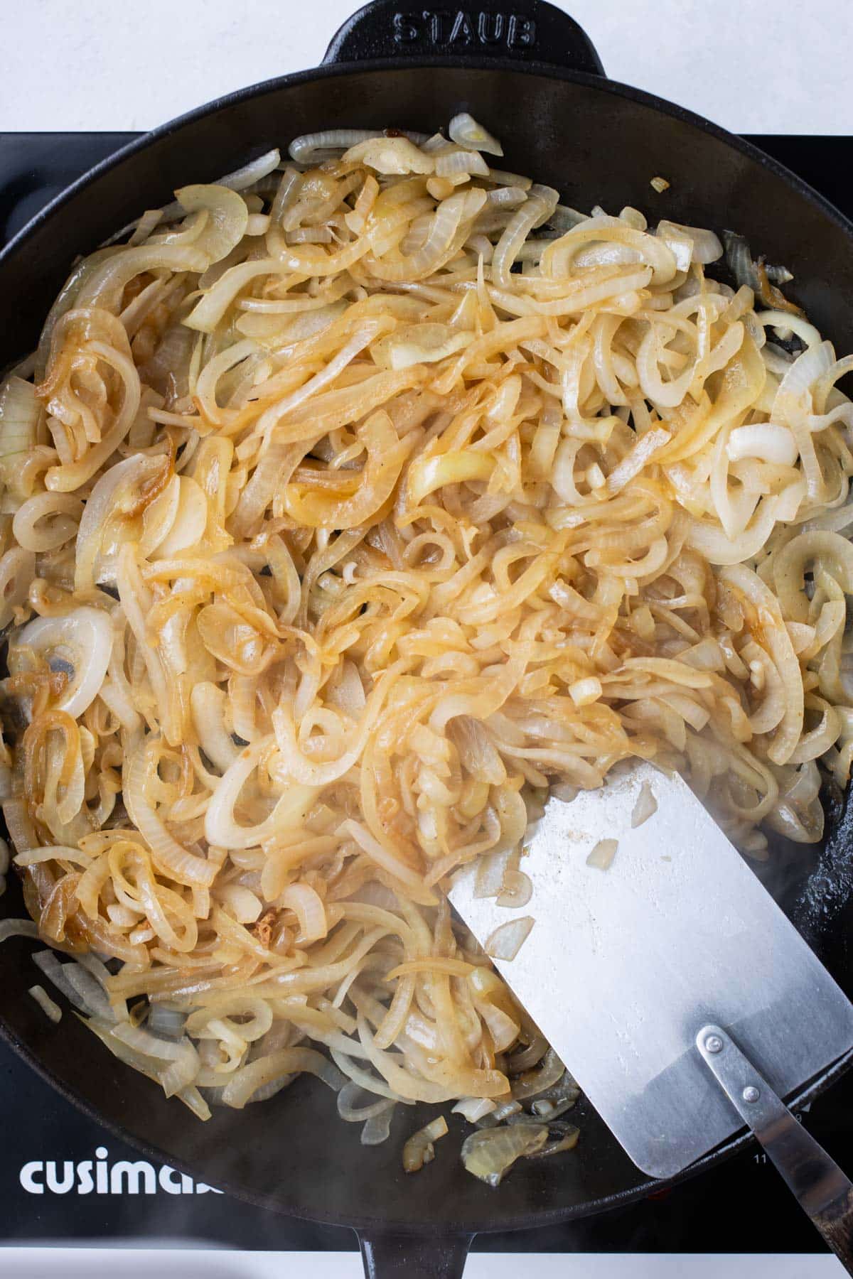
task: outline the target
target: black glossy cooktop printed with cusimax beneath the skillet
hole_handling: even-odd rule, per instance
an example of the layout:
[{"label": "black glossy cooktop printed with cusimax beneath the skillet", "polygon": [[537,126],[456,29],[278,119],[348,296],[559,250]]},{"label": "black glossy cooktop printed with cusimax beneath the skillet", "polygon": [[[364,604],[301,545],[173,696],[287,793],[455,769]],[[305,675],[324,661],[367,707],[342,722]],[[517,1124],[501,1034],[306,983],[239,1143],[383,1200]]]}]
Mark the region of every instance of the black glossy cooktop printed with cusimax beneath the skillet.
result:
[{"label": "black glossy cooktop printed with cusimax beneath the skillet", "polygon": [[[68,183],[133,137],[0,134],[0,244]],[[751,141],[853,217],[853,138]],[[853,1072],[820,1097],[803,1122],[849,1168]],[[0,1131],[0,1244],[156,1238],[256,1250],[356,1247],[349,1230],[293,1221],[138,1160],[132,1147],[78,1113],[3,1042]],[[134,1166],[121,1166],[128,1163]],[[751,1150],[629,1207],[564,1227],[481,1236],[474,1247],[505,1252],[822,1251],[766,1156]]]}]

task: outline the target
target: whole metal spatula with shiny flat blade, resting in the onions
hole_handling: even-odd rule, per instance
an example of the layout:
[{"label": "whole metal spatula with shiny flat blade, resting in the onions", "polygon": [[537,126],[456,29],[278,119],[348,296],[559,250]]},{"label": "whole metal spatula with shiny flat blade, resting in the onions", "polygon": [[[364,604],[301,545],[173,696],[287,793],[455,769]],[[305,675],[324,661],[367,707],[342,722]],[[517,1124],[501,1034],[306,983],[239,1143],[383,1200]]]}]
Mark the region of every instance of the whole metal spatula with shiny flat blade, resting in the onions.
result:
[{"label": "whole metal spatula with shiny flat blade, resting in the onions", "polygon": [[639,762],[550,799],[520,868],[522,908],[476,867],[450,900],[487,950],[535,921],[497,969],[634,1163],[674,1177],[747,1124],[853,1274],[853,1186],[780,1101],[853,1048],[853,1004],[687,784]]}]

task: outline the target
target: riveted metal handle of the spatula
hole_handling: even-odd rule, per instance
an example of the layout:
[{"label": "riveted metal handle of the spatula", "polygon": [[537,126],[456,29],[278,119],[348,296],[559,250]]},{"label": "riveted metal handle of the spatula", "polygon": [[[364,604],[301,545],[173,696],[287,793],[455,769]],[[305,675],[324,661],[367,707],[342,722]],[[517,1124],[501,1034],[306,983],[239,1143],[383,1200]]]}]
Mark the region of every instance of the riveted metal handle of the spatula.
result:
[{"label": "riveted metal handle of the spatula", "polygon": [[781,1173],[824,1239],[853,1275],[853,1183],[799,1124],[766,1079],[719,1026],[696,1044],[732,1105]]}]

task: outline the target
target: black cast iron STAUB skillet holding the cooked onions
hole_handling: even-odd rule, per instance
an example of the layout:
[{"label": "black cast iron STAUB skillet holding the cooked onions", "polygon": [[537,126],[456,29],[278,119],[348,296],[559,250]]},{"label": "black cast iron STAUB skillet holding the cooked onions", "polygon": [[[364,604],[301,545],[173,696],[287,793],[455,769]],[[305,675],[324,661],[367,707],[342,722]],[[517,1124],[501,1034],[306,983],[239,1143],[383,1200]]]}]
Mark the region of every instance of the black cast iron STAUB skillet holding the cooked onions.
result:
[{"label": "black cast iron STAUB skillet holding the cooked onions", "polygon": [[[459,110],[503,139],[506,168],[558,187],[572,205],[599,202],[616,212],[629,203],[653,219],[742,231],[794,272],[797,299],[838,349],[853,349],[853,226],[788,170],[696,115],[604,79],[577,23],[540,0],[513,0],[512,10],[486,0],[476,10],[441,13],[375,0],[338,32],[322,67],[156,129],[29,223],[0,255],[0,367],[32,349],[75,255],[165,203],[175,187],[211,180],[299,133],[336,125],[431,133]],[[671,183],[665,194],[650,187],[659,174]],[[849,994],[853,816],[838,799],[830,810],[825,849],[781,848],[767,883]],[[22,913],[15,885],[0,911]],[[31,949],[15,940],[0,954],[0,1031],[35,1069],[153,1159],[281,1212],[354,1227],[368,1274],[453,1279],[478,1230],[597,1212],[655,1186],[583,1104],[577,1152],[519,1165],[496,1191],[463,1170],[459,1117],[435,1163],[405,1178],[400,1145],[425,1122],[418,1111],[405,1108],[390,1141],[364,1149],[358,1126],[338,1120],[334,1096],[313,1079],[242,1113],[217,1110],[202,1124],[120,1065],[72,1016],[58,1027],[47,1022],[27,995]],[[813,1096],[845,1065],[795,1100]]]}]

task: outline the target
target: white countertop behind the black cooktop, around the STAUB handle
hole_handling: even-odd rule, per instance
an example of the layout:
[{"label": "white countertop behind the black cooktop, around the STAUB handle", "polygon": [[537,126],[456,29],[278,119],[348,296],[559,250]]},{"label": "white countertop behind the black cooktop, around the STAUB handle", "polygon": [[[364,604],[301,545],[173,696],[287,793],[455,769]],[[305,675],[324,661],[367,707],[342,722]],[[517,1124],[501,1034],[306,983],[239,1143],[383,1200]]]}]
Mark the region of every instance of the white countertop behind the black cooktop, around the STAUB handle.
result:
[{"label": "white countertop behind the black cooktop, around the STAUB handle", "polygon": [[[0,130],[152,128],[220,93],[316,65],[357,3],[6,0]],[[610,77],[725,128],[853,127],[853,6],[843,0],[558,4],[586,28]],[[419,5],[400,0],[407,8]]]}]

